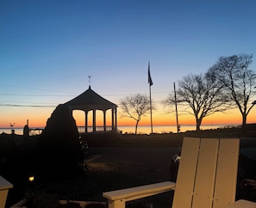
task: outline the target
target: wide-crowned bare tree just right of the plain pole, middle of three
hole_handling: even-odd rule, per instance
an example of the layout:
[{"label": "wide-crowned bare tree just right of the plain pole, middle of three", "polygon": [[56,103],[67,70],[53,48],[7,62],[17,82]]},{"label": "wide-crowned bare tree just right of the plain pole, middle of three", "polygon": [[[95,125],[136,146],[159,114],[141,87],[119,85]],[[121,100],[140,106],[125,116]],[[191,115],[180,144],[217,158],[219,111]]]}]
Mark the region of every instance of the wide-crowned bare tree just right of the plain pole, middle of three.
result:
[{"label": "wide-crowned bare tree just right of the plain pole, middle of three", "polygon": [[[227,99],[222,96],[222,86],[214,76],[189,75],[178,82],[177,103],[184,113],[195,116],[197,131],[200,131],[203,118],[227,109]],[[168,95],[165,104],[175,104],[173,94]],[[180,109],[180,108],[179,108]]]}]

